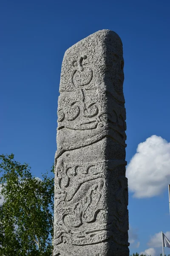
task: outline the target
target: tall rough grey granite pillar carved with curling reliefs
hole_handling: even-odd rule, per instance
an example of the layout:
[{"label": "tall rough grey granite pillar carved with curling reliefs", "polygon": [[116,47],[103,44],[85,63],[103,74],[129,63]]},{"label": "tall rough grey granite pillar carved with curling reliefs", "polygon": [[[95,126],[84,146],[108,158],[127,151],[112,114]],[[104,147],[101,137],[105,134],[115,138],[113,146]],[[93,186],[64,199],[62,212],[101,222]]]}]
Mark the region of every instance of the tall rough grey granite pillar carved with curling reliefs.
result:
[{"label": "tall rough grey granite pillar carved with curling reliefs", "polygon": [[126,112],[119,36],[100,30],[62,62],[54,256],[128,256]]}]

